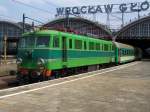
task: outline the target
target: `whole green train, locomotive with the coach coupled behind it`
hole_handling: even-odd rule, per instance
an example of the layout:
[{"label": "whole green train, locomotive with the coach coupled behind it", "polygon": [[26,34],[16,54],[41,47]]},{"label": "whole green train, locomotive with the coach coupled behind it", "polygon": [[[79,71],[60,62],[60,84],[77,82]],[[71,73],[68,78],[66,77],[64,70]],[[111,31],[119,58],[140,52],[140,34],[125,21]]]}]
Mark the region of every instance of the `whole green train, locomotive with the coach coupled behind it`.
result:
[{"label": "whole green train, locomotive with the coach coupled behind it", "polygon": [[25,33],[18,45],[17,78],[30,83],[132,61],[134,49],[127,46],[55,30]]}]

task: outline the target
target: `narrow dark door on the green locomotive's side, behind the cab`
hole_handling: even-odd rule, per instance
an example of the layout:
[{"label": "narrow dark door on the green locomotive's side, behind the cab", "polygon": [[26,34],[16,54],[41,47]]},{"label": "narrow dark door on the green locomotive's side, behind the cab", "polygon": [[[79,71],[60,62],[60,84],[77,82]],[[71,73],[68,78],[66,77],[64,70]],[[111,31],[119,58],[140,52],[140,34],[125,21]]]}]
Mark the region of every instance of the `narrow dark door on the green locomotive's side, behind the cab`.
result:
[{"label": "narrow dark door on the green locomotive's side, behind the cab", "polygon": [[62,37],[62,61],[67,61],[67,39],[66,37]]}]

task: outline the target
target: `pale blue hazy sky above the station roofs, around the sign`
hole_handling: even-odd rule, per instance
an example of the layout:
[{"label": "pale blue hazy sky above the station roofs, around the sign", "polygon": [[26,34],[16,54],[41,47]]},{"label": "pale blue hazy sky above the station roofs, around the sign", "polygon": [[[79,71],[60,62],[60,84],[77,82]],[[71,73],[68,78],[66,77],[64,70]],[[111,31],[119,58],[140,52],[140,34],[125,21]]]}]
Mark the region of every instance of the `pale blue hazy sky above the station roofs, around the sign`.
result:
[{"label": "pale blue hazy sky above the station roofs, around the sign", "polygon": [[[107,5],[121,4],[131,2],[144,2],[145,0],[0,0],[0,20],[10,20],[14,22],[22,21],[22,15],[37,19],[43,23],[54,20],[56,8],[89,6],[89,5]],[[21,2],[21,3],[20,3]],[[150,2],[150,0],[148,0]],[[140,13],[140,16],[147,15],[150,10]],[[110,22],[107,21],[106,14],[82,15],[84,18],[98,21],[101,24],[110,24],[111,28],[119,28],[121,25],[121,14],[110,15]],[[125,23],[134,21],[137,13],[125,14]],[[26,22],[31,23],[30,20]],[[39,23],[37,23],[39,24]]]}]

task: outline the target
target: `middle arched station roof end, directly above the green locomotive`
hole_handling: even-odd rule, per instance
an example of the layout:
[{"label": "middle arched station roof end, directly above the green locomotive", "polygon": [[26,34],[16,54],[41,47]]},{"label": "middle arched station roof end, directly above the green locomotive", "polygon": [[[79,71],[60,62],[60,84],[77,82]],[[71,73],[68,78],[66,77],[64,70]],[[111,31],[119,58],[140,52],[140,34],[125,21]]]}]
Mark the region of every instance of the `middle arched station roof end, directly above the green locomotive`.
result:
[{"label": "middle arched station roof end, directly above the green locomotive", "polygon": [[80,17],[59,18],[43,25],[48,29],[68,28],[79,34],[88,34],[96,38],[111,39],[112,33],[106,25]]}]

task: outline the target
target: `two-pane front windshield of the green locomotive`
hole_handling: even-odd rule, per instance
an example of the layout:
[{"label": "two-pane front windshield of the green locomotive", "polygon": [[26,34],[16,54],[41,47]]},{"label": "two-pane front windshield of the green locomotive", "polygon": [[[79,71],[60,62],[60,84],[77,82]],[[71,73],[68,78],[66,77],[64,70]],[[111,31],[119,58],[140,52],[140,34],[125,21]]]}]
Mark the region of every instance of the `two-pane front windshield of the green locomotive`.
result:
[{"label": "two-pane front windshield of the green locomotive", "polygon": [[48,47],[49,46],[49,37],[22,37],[19,41],[20,48],[26,47]]}]

